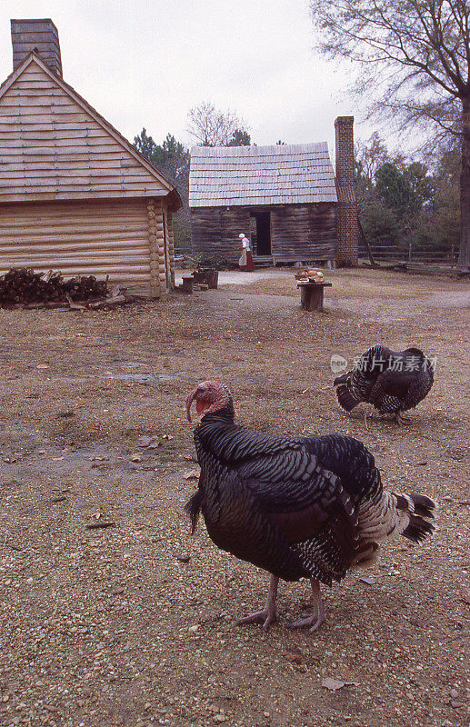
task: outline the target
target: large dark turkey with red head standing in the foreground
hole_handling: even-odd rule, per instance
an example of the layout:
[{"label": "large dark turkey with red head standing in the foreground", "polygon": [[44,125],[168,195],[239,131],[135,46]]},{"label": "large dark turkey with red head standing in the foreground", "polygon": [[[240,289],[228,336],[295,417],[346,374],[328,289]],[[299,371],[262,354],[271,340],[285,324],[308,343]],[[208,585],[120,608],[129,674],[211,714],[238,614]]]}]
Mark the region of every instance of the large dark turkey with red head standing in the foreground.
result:
[{"label": "large dark turkey with red head standing in the foreground", "polygon": [[215,545],[271,573],[265,608],[238,623],[267,629],[276,619],[279,578],[309,578],[315,611],[291,627],[313,632],[324,620],[320,583],[373,563],[387,537],[419,543],[433,531],[433,500],[385,492],[374,457],[352,437],[283,437],[239,426],[231,393],[214,381],[187,397],[189,421],[193,402],[201,476],[185,506],[192,532],[202,512]]}]

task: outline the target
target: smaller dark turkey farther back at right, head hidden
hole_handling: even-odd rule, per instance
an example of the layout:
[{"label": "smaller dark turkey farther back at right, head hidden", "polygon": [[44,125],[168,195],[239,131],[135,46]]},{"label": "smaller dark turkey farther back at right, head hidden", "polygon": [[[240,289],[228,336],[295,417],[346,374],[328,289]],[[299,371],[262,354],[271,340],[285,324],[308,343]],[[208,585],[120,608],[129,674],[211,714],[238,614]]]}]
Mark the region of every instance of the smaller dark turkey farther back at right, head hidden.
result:
[{"label": "smaller dark turkey farther back at right, head hidden", "polygon": [[410,422],[402,412],[423,401],[433,383],[433,365],[419,348],[391,351],[383,345],[369,348],[351,371],[333,382],[338,403],[346,412],[368,402],[381,414],[394,414],[398,424]]}]

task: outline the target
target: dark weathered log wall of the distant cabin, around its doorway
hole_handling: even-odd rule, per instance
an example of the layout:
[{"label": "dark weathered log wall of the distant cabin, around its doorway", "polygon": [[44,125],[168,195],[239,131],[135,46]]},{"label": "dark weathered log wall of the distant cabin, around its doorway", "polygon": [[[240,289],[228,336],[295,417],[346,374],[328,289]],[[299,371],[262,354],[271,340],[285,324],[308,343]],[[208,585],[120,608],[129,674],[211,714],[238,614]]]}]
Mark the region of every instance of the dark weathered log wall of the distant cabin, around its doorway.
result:
[{"label": "dark weathered log wall of the distant cabin, around its doorway", "polygon": [[335,203],[195,207],[191,210],[193,252],[236,262],[240,256],[238,235],[249,234],[250,212],[271,213],[271,251],[275,257],[335,260]]}]

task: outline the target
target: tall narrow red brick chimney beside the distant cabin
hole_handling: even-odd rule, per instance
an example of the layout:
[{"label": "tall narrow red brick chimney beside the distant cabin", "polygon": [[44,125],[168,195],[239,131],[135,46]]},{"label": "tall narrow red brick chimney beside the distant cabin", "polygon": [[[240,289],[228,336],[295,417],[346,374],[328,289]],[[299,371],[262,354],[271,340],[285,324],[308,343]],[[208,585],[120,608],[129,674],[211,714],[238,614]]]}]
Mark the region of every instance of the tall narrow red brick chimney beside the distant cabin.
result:
[{"label": "tall narrow red brick chimney beside the distant cabin", "polygon": [[335,121],[336,193],[338,195],[337,263],[347,267],[357,266],[354,121],[354,116],[338,116]]}]

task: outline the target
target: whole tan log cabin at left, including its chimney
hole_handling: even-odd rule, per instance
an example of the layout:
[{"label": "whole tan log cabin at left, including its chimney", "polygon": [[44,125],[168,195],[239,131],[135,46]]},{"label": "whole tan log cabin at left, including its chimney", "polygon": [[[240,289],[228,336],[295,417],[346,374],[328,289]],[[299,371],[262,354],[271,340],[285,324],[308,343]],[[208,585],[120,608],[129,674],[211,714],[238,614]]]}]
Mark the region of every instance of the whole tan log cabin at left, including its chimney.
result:
[{"label": "whole tan log cabin at left, including its chimney", "polygon": [[130,293],[175,286],[175,186],[62,77],[50,20],[12,20],[0,86],[0,274],[108,277]]}]

